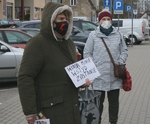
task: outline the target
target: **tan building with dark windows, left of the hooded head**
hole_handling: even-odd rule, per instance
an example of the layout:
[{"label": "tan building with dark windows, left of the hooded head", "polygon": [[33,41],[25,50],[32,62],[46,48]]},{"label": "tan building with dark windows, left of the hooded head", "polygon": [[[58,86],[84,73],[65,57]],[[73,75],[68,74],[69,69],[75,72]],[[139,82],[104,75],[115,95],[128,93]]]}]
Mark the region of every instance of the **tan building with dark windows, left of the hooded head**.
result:
[{"label": "tan building with dark windows, left of the hooded head", "polygon": [[[41,19],[45,0],[24,0],[24,17],[27,20]],[[21,0],[0,0],[0,20],[21,19]]]}]

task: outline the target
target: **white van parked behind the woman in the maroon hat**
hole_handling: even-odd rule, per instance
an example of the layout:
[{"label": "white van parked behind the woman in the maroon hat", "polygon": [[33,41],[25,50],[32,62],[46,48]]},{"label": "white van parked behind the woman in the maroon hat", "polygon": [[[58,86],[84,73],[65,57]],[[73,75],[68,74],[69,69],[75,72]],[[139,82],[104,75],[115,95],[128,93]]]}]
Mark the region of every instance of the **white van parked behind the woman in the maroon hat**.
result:
[{"label": "white van parked behind the woman in the maroon hat", "polygon": [[[112,25],[118,27],[118,19],[112,20]],[[132,38],[132,20],[119,19],[119,31]],[[149,40],[149,22],[147,19],[133,19],[133,44],[140,44],[142,41]]]}]

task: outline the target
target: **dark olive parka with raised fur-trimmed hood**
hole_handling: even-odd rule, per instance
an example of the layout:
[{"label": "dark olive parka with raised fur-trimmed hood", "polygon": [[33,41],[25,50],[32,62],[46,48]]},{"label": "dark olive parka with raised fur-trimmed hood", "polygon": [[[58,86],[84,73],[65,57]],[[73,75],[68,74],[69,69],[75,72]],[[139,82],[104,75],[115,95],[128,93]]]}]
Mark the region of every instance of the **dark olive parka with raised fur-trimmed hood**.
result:
[{"label": "dark olive parka with raised fur-trimmed hood", "polygon": [[[52,26],[64,10],[69,14],[69,27],[60,39]],[[75,45],[69,38],[71,30],[71,8],[59,3],[46,4],[40,33],[28,42],[18,76],[19,96],[26,116],[42,112],[51,124],[81,124],[78,89],[64,69],[77,61]]]}]

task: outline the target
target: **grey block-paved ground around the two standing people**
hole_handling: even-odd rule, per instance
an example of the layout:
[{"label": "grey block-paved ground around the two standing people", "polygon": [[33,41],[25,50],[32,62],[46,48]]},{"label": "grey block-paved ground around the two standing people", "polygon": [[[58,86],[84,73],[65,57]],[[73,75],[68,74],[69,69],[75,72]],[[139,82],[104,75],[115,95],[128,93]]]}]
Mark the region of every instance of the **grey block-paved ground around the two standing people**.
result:
[{"label": "grey block-paved ground around the two standing people", "polygon": [[[126,64],[133,87],[120,92],[118,124],[150,124],[150,42],[129,46],[128,51]],[[108,116],[106,98],[102,124],[109,124]],[[18,95],[0,105],[0,124],[27,124]]]}]

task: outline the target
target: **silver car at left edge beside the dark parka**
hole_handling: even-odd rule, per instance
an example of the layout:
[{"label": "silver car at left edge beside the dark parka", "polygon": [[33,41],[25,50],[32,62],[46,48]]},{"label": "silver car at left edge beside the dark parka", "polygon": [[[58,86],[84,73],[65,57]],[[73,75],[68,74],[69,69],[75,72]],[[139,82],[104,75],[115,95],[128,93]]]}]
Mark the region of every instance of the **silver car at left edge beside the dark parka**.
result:
[{"label": "silver car at left edge beside the dark parka", "polygon": [[0,82],[17,80],[23,51],[0,41]]}]

